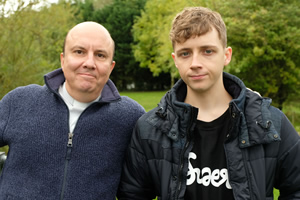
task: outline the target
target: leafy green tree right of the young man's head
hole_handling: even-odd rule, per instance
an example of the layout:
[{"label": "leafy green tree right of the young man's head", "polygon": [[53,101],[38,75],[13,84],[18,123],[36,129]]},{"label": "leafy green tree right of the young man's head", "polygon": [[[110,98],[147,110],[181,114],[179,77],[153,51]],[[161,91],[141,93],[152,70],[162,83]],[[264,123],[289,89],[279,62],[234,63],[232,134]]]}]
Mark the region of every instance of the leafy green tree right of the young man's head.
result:
[{"label": "leafy green tree right of the young man's head", "polygon": [[228,0],[221,1],[218,9],[233,47],[227,70],[281,109],[300,89],[299,1]]}]

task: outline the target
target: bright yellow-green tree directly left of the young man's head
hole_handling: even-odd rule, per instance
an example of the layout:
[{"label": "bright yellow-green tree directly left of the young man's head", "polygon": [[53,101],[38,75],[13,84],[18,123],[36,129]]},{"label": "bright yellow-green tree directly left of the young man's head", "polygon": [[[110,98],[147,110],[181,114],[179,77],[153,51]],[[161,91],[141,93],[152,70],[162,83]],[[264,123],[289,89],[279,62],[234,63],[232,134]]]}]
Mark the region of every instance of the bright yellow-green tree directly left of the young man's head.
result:
[{"label": "bright yellow-green tree directly left of the young man's head", "polygon": [[148,0],[141,17],[133,25],[134,56],[140,66],[149,68],[154,76],[169,73],[173,85],[179,75],[171,57],[169,32],[172,20],[184,7],[208,6],[210,3],[205,0]]}]

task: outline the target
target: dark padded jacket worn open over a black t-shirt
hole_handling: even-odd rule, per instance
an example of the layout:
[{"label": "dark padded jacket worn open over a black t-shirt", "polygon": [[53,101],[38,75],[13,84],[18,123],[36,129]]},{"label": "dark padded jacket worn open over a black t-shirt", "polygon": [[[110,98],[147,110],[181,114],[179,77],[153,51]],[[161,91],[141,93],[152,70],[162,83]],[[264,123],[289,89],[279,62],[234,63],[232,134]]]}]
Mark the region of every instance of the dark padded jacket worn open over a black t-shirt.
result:
[{"label": "dark padded jacket worn open over a black t-shirt", "polygon": [[[224,143],[229,181],[235,199],[300,199],[300,137],[271,100],[224,73],[231,128]],[[179,80],[157,108],[137,122],[126,155],[118,199],[182,200],[188,155],[198,110],[184,103],[186,85]]]}]

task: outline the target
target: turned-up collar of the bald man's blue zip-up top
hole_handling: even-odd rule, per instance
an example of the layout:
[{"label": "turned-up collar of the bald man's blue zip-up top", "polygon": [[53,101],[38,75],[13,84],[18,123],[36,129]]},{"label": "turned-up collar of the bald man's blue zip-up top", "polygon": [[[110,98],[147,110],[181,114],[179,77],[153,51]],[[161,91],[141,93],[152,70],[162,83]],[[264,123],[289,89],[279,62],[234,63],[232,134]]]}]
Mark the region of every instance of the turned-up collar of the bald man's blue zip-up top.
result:
[{"label": "turned-up collar of the bald man's blue zip-up top", "polygon": [[[61,68],[56,69],[44,76],[44,81],[49,90],[58,95],[58,88],[65,81],[65,76]],[[114,85],[114,83],[109,79],[105,84],[101,98],[99,102],[111,102],[120,99],[121,96]]]}]

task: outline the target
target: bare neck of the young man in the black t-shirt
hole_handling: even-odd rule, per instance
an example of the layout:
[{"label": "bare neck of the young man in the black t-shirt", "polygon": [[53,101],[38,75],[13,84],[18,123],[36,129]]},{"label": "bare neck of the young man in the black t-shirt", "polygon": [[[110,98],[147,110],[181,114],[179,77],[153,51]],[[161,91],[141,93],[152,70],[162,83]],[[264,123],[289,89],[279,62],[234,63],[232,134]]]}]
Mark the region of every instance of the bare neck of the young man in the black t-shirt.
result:
[{"label": "bare neck of the young man in the black t-shirt", "polygon": [[198,108],[198,120],[210,122],[220,117],[232,100],[224,85],[207,92],[193,91],[188,87],[185,102]]}]

